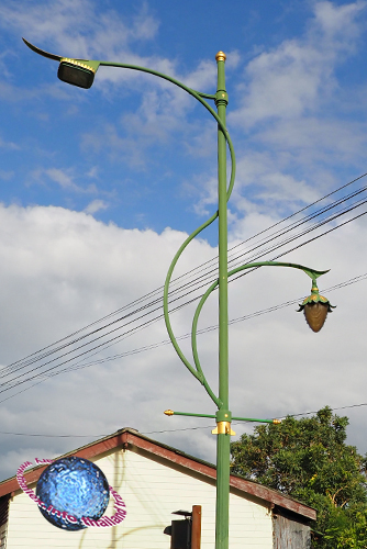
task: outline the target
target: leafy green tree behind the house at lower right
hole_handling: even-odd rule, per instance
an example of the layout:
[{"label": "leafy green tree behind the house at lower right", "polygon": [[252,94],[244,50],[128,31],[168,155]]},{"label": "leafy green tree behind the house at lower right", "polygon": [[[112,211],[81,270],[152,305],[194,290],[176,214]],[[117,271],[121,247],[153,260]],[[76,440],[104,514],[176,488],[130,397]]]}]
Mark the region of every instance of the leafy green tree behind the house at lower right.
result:
[{"label": "leafy green tree behind the house at lower right", "polygon": [[314,547],[367,548],[367,460],[345,444],[347,417],[315,416],[260,425],[231,446],[232,471],[318,511]]}]

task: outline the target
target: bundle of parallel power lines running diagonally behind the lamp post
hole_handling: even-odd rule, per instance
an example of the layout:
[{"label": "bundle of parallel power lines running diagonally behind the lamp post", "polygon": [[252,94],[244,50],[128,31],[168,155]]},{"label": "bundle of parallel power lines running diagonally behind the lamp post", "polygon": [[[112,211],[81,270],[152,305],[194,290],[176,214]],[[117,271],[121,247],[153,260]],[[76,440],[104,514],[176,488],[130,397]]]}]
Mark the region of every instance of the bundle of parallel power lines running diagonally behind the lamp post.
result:
[{"label": "bundle of parallel power lines running diagonally behind the lamp post", "polygon": [[[330,197],[332,194],[335,194],[341,189],[344,189],[345,187],[352,184],[353,182],[362,179],[366,175],[367,173],[364,173],[359,178],[351,181],[349,183],[346,183],[342,188],[333,191],[332,193],[329,193],[326,197],[323,197],[322,199],[319,199],[319,201],[313,202],[309,206],[305,206],[304,209],[300,210],[299,212],[296,212],[291,216],[286,217],[286,220],[289,220],[290,217],[296,216],[298,213],[305,211],[308,208],[313,206],[314,204],[321,202],[325,198],[327,198],[327,197]],[[246,253],[243,253],[240,256],[237,255],[236,257],[232,258],[231,259],[232,265],[233,265],[233,262],[238,261],[240,258],[243,258],[244,256],[246,256],[246,255],[248,256],[248,254],[254,253],[256,249],[262,248],[262,247],[264,248],[264,246],[268,245],[271,240],[274,240],[276,238],[279,238],[280,236],[283,236],[286,233],[294,231],[297,227],[299,227],[302,224],[309,223],[311,219],[315,219],[316,216],[324,214],[326,211],[331,212],[333,208],[340,206],[343,202],[346,202],[348,200],[354,199],[355,197],[357,197],[360,193],[365,192],[366,189],[367,189],[367,187],[364,187],[362,189],[357,189],[356,191],[351,192],[346,197],[343,197],[342,199],[336,200],[333,204],[330,204],[327,206],[323,206],[322,209],[318,210],[316,212],[313,212],[313,213],[304,216],[299,222],[293,222],[290,225],[291,228],[290,227],[286,227],[286,229],[283,229],[282,232],[278,231],[277,233],[271,234],[270,237],[268,237],[265,242],[259,243],[259,244],[255,245],[255,247],[252,247],[251,249],[248,249]],[[349,204],[347,206],[344,206],[336,214],[330,214],[326,219],[323,219],[322,221],[320,221],[318,223],[314,223],[311,226],[308,226],[305,229],[302,229],[301,232],[299,232],[296,236],[289,236],[286,239],[283,239],[282,242],[280,242],[280,244],[278,243],[278,244],[275,244],[274,246],[267,247],[267,248],[263,249],[260,253],[256,253],[256,255],[255,256],[253,255],[251,258],[247,257],[247,262],[249,262],[251,260],[258,259],[259,257],[264,256],[265,254],[268,254],[269,251],[275,251],[276,249],[279,249],[280,247],[285,246],[286,244],[289,244],[290,242],[293,242],[294,239],[298,239],[298,238],[301,238],[301,237],[305,236],[311,231],[320,228],[322,225],[335,221],[337,217],[340,217],[342,215],[345,215],[346,213],[351,212],[352,210],[355,210],[356,208],[359,208],[360,205],[365,204],[366,202],[367,202],[367,199],[366,200],[365,199],[358,199],[358,201],[355,201],[354,203],[352,203],[352,204]],[[330,233],[332,231],[335,231],[336,228],[340,228],[341,226],[345,225],[346,223],[351,223],[352,221],[355,221],[356,219],[360,217],[362,215],[365,215],[366,213],[367,212],[363,212],[362,214],[356,215],[355,217],[352,217],[352,219],[347,220],[346,222],[341,223],[340,225],[336,225],[336,226],[332,227],[331,229],[329,229],[329,231],[326,231],[326,232],[324,232],[324,233],[322,233],[320,235],[316,235],[313,238],[310,238],[310,239],[308,239],[305,242],[302,242],[298,246],[296,246],[293,248],[290,248],[290,249],[288,249],[286,251],[282,251],[281,254],[278,254],[273,259],[277,259],[277,258],[281,257],[282,255],[288,254],[289,251],[292,251],[292,250],[294,250],[294,249],[297,249],[297,248],[299,248],[301,246],[304,246],[305,244],[308,244],[310,242],[313,242],[313,240],[320,238],[321,236],[324,236],[325,234],[327,234],[327,233]],[[282,220],[282,222],[286,221],[286,220]],[[255,235],[252,238],[248,238],[247,240],[256,238],[256,236],[262,235],[262,234],[268,232],[274,226],[279,225],[282,222],[278,222],[278,223],[274,224],[268,229],[258,233],[257,235]],[[245,240],[245,242],[247,242],[247,240]],[[245,243],[242,243],[241,245],[243,245],[243,244],[245,244]],[[235,246],[234,248],[237,248],[237,247],[238,247],[238,245]],[[234,248],[232,248],[232,249],[234,249]],[[187,300],[185,303],[180,303],[180,304],[176,305],[176,307],[173,310],[173,312],[174,311],[178,311],[182,306],[186,306],[188,303],[192,303],[193,301],[196,301],[197,299],[200,298],[200,295],[198,295],[198,291],[207,284],[208,278],[213,272],[216,272],[216,268],[211,269],[211,271],[209,271],[209,272],[203,272],[204,270],[208,271],[208,268],[210,268],[210,267],[205,267],[205,269],[203,269],[203,266],[204,265],[209,265],[212,261],[214,261],[214,259],[212,259],[210,261],[207,261],[207,264],[202,264],[202,266],[199,266],[199,267],[197,267],[194,269],[191,269],[191,271],[182,274],[181,277],[179,277],[178,279],[176,279],[174,281],[174,285],[176,284],[176,288],[174,288],[170,291],[170,296],[171,296],[170,303],[174,303],[174,302],[177,302],[179,300],[182,300],[182,299],[187,298],[189,294],[192,294],[192,293],[196,293],[196,295],[194,295],[194,298],[191,298],[190,300]],[[185,282],[184,284],[181,283],[181,285],[177,287],[177,284],[178,284],[177,281],[178,280],[184,280],[185,278],[188,277],[188,274],[196,273],[196,272],[199,272],[199,273],[203,272],[203,273],[200,274],[199,277],[196,277],[193,280],[189,280],[188,282]],[[244,274],[247,274],[247,273],[248,273],[248,271],[240,273],[234,279],[240,278],[241,276],[244,276]],[[198,282],[199,282],[199,284],[198,284]],[[182,293],[182,291],[184,291],[184,293]],[[12,379],[8,379],[7,381],[3,381],[0,384],[0,386],[3,386],[4,389],[2,391],[0,391],[0,392],[7,391],[9,389],[13,389],[14,386],[18,386],[21,383],[29,382],[29,381],[31,381],[32,379],[35,379],[38,376],[44,376],[49,370],[54,370],[55,368],[57,369],[60,366],[63,366],[63,365],[65,365],[65,363],[67,363],[69,361],[73,361],[73,360],[76,360],[76,359],[82,357],[84,355],[90,355],[92,351],[96,351],[96,349],[101,349],[101,348],[110,347],[111,345],[115,344],[116,341],[121,340],[122,338],[127,337],[132,333],[135,333],[136,330],[140,330],[143,327],[146,327],[147,325],[151,325],[153,322],[156,322],[157,320],[159,320],[163,316],[162,314],[160,315],[156,315],[155,317],[148,318],[146,321],[143,321],[143,318],[146,317],[146,316],[152,315],[157,310],[160,310],[160,299],[162,299],[160,298],[160,292],[162,292],[162,289],[158,289],[158,290],[155,290],[153,292],[149,292],[149,294],[147,294],[147,296],[151,296],[151,298],[154,296],[154,300],[151,301],[147,304],[143,304],[144,300],[146,301],[146,299],[147,299],[147,296],[143,296],[143,298],[140,298],[138,300],[135,300],[131,304],[125,305],[124,307],[121,307],[120,310],[118,310],[119,313],[122,312],[122,311],[129,311],[129,309],[131,309],[134,304],[135,305],[137,303],[140,304],[140,306],[137,309],[127,312],[125,315],[123,315],[122,317],[119,317],[118,320],[109,322],[104,326],[100,326],[100,327],[98,327],[98,328],[89,332],[88,334],[78,335],[78,334],[81,334],[88,327],[96,326],[99,322],[104,321],[107,318],[111,318],[115,313],[111,313],[110,315],[104,316],[102,320],[96,321],[94,323],[89,324],[87,327],[81,328],[81,329],[73,333],[70,336],[67,336],[65,338],[59,339],[58,341],[56,341],[56,344],[52,344],[52,345],[49,345],[47,347],[44,347],[40,351],[36,351],[36,352],[32,354],[32,355],[29,355],[24,359],[19,360],[16,362],[13,362],[13,363],[9,365],[8,367],[4,367],[2,370],[0,370],[0,378],[1,377],[2,378],[7,378],[10,374],[15,373],[16,371],[24,370],[25,368],[30,368],[33,363],[40,362],[40,360],[43,360],[43,359],[49,357],[51,355],[55,355],[56,352],[62,351],[66,347],[74,346],[78,341],[86,340],[86,339],[94,336],[93,339],[87,340],[82,345],[79,345],[79,346],[73,348],[69,351],[64,352],[63,355],[57,356],[56,358],[53,358],[52,360],[48,360],[45,363],[42,363],[41,366],[37,366],[36,368],[32,368],[27,372],[23,372],[23,373],[16,376],[16,377],[13,377]],[[179,292],[181,292],[181,293],[179,293]],[[157,296],[158,294],[159,294],[159,296]],[[159,303],[159,305],[158,305],[158,303]],[[140,314],[140,316],[136,316],[138,314]],[[136,324],[136,322],[138,322],[138,321],[142,321],[142,322],[137,326],[135,325],[135,326],[129,328],[127,330],[125,329],[124,333],[119,334],[119,335],[116,335],[114,337],[111,337],[108,340],[104,339],[107,336],[109,336],[109,335],[111,335],[113,333],[120,332],[121,329],[126,328],[126,326],[129,326],[129,325],[133,325],[134,323]],[[124,322],[124,324],[120,325],[120,326],[116,326],[116,327],[114,326],[114,325],[116,325],[116,324],[119,324],[121,322]],[[110,328],[112,326],[114,326],[112,329],[108,330],[107,333],[101,334],[102,330],[105,330],[107,328]],[[99,335],[96,337],[97,334],[99,334]],[[78,335],[78,337],[75,337],[73,340],[69,340],[70,337],[73,337],[75,335]],[[90,347],[97,340],[101,340],[101,339],[104,339],[101,344],[98,344],[98,345],[94,345],[93,347]],[[57,345],[57,344],[60,344],[60,345],[58,345],[58,347],[55,348],[55,345]],[[63,360],[62,362],[58,362],[57,365],[53,366],[52,368],[49,368],[46,371],[38,372],[35,376],[31,376],[31,373],[34,372],[35,370],[43,369],[46,366],[48,366],[49,363],[52,363],[52,362],[59,361],[63,357],[66,357],[66,356],[69,356],[69,355],[75,355],[80,349],[86,349],[86,350],[79,352],[76,356],[73,356],[71,358],[69,358],[67,360]],[[26,376],[31,376],[31,377],[26,378]],[[26,378],[26,379],[24,379],[24,378]]]}]

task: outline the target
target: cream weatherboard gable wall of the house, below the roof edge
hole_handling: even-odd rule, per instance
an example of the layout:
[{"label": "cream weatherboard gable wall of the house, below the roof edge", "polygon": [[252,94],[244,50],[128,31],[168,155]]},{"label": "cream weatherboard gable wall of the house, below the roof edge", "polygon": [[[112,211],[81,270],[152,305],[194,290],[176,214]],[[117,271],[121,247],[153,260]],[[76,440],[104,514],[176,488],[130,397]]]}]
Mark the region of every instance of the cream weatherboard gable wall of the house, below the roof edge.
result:
[{"label": "cream weatherboard gable wall of the house, below the roof edge", "polygon": [[[64,531],[52,526],[37,505],[16,492],[10,503],[7,549],[169,549],[170,537],[163,534],[173,511],[202,506],[202,549],[214,546],[215,488],[131,450],[115,450],[93,460],[124,500],[126,518],[116,527]],[[112,497],[111,497],[112,500]],[[263,505],[231,494],[230,548],[271,549],[271,516]],[[105,515],[113,515],[110,502]]]}]

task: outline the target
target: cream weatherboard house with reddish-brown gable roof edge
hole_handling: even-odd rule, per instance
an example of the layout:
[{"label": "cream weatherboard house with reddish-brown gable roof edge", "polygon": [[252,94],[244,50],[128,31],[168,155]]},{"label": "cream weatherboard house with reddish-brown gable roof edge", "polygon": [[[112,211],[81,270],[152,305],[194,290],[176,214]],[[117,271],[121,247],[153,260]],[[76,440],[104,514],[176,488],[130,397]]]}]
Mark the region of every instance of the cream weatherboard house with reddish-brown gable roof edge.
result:
[{"label": "cream weatherboard house with reddish-brown gable roof edge", "polygon": [[[109,528],[65,531],[43,517],[13,477],[0,483],[0,549],[169,549],[170,537],[164,530],[175,518],[173,512],[191,511],[193,505],[202,508],[201,548],[214,547],[214,466],[131,428],[64,457],[67,456],[88,459],[103,471],[125,503],[125,519]],[[44,469],[41,464],[24,471],[30,489],[35,490]],[[110,501],[105,515],[113,513]],[[313,508],[231,475],[231,549],[308,549],[310,524],[315,518]]]}]

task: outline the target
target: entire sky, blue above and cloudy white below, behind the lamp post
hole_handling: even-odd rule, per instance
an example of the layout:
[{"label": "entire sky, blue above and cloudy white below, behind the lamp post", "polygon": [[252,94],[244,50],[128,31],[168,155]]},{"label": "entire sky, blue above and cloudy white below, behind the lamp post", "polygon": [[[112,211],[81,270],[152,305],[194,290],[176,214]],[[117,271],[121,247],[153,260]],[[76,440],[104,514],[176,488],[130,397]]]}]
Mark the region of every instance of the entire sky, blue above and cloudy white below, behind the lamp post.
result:
[{"label": "entire sky, blue above and cloudy white below, behind the lamp post", "polygon": [[[240,246],[367,171],[366,19],[365,1],[3,0],[0,363],[159,288],[186,234],[216,209],[216,125],[200,104],[164,80],[122,69],[101,67],[90,90],[67,86],[57,80],[57,63],[35,55],[22,36],[58,55],[154,68],[208,93],[215,92],[215,54],[224,51],[237,158],[230,243]],[[364,220],[285,260],[331,268],[321,289],[366,273]],[[178,272],[215,254],[213,227],[191,245]],[[233,413],[273,417],[365,402],[364,284],[330,296],[338,309],[316,336],[291,307],[233,325]],[[231,285],[230,317],[308,291],[299,273],[256,271],[251,283]],[[216,322],[214,300],[205,311],[201,327]],[[190,323],[185,307],[175,315],[177,335]],[[215,337],[200,338],[214,384]],[[166,338],[164,324],[155,323],[101,349],[94,358],[105,363],[0,393],[3,430],[93,439],[133,426],[214,459],[210,429],[180,432],[198,421],[162,414],[213,412],[173,349],[131,354]],[[351,411],[351,442],[360,451],[364,429],[365,408]],[[30,455],[51,457],[80,442],[0,438],[1,477]]]}]

